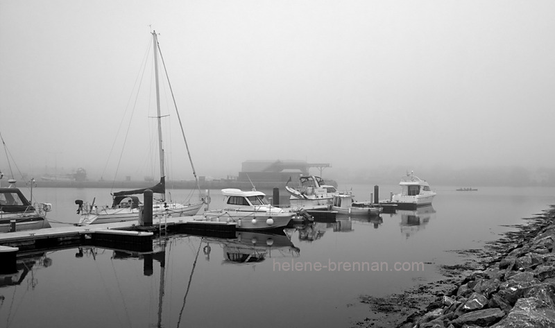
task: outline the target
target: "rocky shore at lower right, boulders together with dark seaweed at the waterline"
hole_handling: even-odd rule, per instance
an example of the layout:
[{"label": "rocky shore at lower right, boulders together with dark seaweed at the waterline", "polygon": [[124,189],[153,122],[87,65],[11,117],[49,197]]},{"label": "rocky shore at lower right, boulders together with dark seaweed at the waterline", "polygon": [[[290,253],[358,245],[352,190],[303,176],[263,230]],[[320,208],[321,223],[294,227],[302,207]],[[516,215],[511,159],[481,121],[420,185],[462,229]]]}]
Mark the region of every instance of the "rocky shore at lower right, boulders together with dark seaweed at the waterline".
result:
[{"label": "rocky shore at lower right, boulders together with dark seaweed at the waterline", "polygon": [[448,279],[402,295],[361,296],[372,315],[355,327],[555,327],[555,207],[524,219]]}]

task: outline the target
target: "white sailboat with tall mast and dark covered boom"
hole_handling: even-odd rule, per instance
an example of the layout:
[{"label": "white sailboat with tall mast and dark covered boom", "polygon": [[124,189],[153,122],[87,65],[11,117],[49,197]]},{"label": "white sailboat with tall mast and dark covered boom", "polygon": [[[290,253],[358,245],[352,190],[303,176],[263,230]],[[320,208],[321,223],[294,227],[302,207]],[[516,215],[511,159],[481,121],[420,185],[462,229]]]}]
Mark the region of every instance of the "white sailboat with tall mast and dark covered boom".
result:
[{"label": "white sailboat with tall mast and dark covered boom", "polygon": [[[158,130],[158,150],[160,153],[160,182],[153,187],[142,188],[142,189],[133,189],[133,190],[125,190],[119,191],[112,194],[112,205],[111,206],[103,206],[99,207],[94,204],[94,200],[92,204],[84,204],[83,200],[76,200],[75,203],[78,205],[77,214],[80,214],[80,220],[77,225],[90,225],[90,224],[99,224],[99,223],[112,223],[112,222],[119,222],[119,221],[131,221],[137,220],[140,215],[140,205],[141,202],[137,196],[144,193],[147,189],[153,191],[153,193],[157,193],[160,195],[160,198],[157,198],[153,201],[153,216],[193,216],[198,213],[200,208],[203,204],[207,203],[207,198],[200,198],[200,202],[196,202],[193,204],[181,204],[179,202],[172,202],[166,200],[166,173],[164,170],[164,148],[162,147],[162,114],[160,112],[160,85],[158,80],[158,59],[157,55],[160,51],[160,46],[158,45],[157,34],[155,31],[151,32],[153,36],[153,51],[154,51],[154,70],[155,70],[155,88],[156,88],[156,109],[157,109],[157,130]],[[162,58],[162,64],[164,65],[164,58],[162,57],[162,53],[160,52],[160,57]],[[166,72],[167,76],[167,72]],[[169,82],[169,79],[168,79]],[[171,91],[171,86],[170,86]],[[173,97],[173,91],[171,91],[171,96],[173,98],[173,103],[176,105],[175,98]],[[187,148],[187,155],[189,155],[189,161],[191,162],[191,167],[193,169],[193,175],[196,180],[196,185],[198,190],[200,191],[200,186],[198,184],[198,178],[196,176],[196,171],[194,169],[193,161],[191,159],[191,155],[189,153],[189,146],[187,144],[187,139],[185,139],[185,132],[183,131],[183,126],[181,124],[181,119],[179,116],[179,112],[176,112],[178,116],[178,120],[181,127],[181,132],[183,139],[185,141],[185,147]]]}]

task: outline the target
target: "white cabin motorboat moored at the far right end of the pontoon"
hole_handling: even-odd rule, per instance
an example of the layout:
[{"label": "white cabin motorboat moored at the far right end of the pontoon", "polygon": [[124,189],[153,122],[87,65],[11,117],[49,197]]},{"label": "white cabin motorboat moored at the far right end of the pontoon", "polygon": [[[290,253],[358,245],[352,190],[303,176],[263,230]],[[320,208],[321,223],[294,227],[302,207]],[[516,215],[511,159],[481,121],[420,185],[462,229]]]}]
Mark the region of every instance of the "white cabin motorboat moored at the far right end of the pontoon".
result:
[{"label": "white cabin motorboat moored at the far right end of the pontoon", "polygon": [[396,205],[397,209],[416,209],[417,207],[432,205],[436,192],[430,189],[428,182],[408,173],[399,182],[401,192],[391,196],[391,200],[380,202],[383,205]]}]

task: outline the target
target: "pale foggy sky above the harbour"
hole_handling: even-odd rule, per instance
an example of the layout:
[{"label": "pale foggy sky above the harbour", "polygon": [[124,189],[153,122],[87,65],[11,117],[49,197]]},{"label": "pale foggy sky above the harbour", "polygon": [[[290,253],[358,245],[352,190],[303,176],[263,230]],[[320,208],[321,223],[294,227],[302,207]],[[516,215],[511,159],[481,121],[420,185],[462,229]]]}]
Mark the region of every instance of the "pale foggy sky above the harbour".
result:
[{"label": "pale foggy sky above the harbour", "polygon": [[[199,175],[236,175],[248,159],[552,166],[554,12],[553,1],[3,0],[0,132],[22,171],[112,178],[153,28]],[[157,175],[149,96],[121,176]],[[171,174],[189,179],[169,111]]]}]

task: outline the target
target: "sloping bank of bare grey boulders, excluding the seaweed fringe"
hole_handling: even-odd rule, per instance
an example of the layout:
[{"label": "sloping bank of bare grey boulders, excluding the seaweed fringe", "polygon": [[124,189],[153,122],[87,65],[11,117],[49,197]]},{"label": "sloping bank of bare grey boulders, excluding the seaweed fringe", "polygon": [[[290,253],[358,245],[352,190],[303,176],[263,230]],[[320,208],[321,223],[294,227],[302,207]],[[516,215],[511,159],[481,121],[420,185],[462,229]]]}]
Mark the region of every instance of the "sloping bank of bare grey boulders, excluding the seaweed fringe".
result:
[{"label": "sloping bank of bare grey boulders, excluding the seaweed fringe", "polygon": [[555,208],[497,242],[498,255],[398,327],[555,327]]}]

